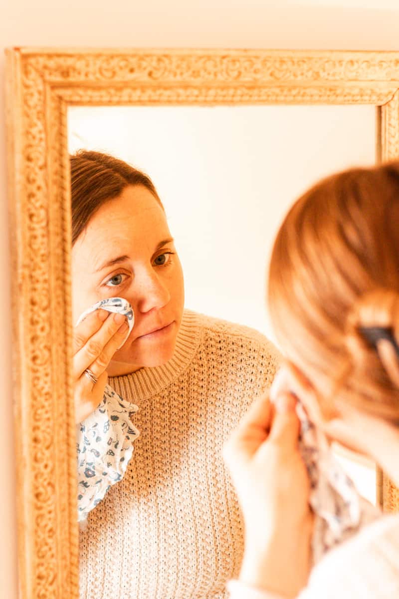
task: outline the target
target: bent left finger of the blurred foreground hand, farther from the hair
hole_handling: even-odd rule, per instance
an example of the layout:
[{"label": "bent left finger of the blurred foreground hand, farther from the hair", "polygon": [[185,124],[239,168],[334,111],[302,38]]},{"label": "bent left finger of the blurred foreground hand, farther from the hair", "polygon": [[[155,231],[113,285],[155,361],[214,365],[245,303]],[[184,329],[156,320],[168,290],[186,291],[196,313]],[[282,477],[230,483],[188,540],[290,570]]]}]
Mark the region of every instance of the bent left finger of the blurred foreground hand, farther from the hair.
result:
[{"label": "bent left finger of the blurred foreground hand, farther from the hair", "polygon": [[254,401],[236,430],[227,441],[223,453],[227,462],[248,461],[266,440],[271,419],[269,395],[264,394]]}]

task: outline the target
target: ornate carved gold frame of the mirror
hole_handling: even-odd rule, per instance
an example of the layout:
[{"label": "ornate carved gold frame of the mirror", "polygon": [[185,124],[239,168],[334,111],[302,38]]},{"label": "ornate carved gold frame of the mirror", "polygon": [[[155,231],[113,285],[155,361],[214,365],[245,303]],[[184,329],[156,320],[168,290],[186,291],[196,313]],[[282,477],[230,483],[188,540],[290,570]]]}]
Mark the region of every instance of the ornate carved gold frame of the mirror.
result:
[{"label": "ornate carved gold frame of the mirror", "polygon": [[[399,53],[26,48],[7,60],[20,597],[73,599],[68,106],[373,104],[379,161],[399,157]],[[399,510],[382,473],[379,501]]]}]

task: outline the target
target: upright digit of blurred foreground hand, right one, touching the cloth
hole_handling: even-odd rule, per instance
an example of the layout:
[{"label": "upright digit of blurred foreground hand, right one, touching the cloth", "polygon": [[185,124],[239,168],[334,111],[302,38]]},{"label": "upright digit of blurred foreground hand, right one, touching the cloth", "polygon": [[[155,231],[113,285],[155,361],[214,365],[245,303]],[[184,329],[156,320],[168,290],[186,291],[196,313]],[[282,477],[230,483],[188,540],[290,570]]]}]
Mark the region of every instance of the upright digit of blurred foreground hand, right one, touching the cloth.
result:
[{"label": "upright digit of blurred foreground hand, right one, touching the cloth", "polygon": [[296,413],[296,397],[282,393],[276,400],[269,441],[278,441],[285,446],[297,447],[300,422]]}]

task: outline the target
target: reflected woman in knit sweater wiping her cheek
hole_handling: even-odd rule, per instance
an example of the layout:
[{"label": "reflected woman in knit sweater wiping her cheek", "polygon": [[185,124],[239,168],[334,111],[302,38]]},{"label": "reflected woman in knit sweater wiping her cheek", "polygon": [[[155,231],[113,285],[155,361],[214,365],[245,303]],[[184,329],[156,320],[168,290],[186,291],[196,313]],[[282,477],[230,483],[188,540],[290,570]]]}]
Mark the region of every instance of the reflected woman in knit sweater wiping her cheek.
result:
[{"label": "reflected woman in knit sweater wiping her cheek", "polygon": [[147,176],[80,152],[71,158],[71,190],[74,322],[109,297],[123,297],[135,313],[120,349],[127,329],[119,314],[96,310],[75,328],[77,422],[96,409],[109,377],[138,405],[140,432],[126,473],[81,533],[81,596],[226,597],[243,527],[221,449],[270,386],[275,352],[251,329],[184,310],[181,265]]}]

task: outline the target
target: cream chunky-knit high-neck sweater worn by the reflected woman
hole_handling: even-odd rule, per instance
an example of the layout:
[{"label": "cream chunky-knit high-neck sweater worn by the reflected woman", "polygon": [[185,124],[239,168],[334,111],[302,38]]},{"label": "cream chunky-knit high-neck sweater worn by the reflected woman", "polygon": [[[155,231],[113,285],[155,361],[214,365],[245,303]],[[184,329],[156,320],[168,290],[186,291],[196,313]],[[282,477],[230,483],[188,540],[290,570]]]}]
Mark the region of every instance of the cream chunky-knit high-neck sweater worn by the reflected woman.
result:
[{"label": "cream chunky-knit high-neck sweater worn by the reflected woman", "polygon": [[243,530],[221,450],[277,361],[258,332],[185,311],[167,364],[109,381],[141,435],[81,532],[82,598],[227,596]]}]

